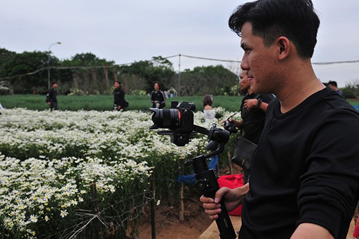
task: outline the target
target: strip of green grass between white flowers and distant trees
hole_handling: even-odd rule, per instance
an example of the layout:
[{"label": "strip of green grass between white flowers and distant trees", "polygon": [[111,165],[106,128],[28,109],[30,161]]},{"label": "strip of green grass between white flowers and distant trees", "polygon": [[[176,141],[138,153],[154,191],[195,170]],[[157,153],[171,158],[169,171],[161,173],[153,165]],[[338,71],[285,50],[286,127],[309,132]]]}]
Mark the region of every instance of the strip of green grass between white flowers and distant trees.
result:
[{"label": "strip of green grass between white flowers and distant trees", "polygon": [[[28,108],[33,110],[49,109],[44,95],[0,95],[0,103],[4,108]],[[129,102],[128,110],[148,110],[152,106],[149,96],[126,95]],[[196,111],[203,109],[203,96],[174,97],[167,99],[166,108],[171,107],[171,101],[194,102]],[[214,96],[213,107],[221,106],[228,111],[238,111],[242,97],[239,96]],[[58,96],[59,110],[112,110],[113,96]]]}]

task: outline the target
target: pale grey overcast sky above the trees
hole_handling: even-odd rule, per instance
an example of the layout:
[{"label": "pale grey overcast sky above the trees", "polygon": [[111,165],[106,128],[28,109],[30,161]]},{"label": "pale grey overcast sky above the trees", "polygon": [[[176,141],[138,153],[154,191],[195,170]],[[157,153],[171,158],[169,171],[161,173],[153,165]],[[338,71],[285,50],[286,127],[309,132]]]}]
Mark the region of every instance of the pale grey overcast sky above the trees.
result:
[{"label": "pale grey overcast sky above the trees", "polygon": [[[94,53],[116,64],[183,54],[240,60],[227,24],[244,0],[0,0],[0,48],[48,51],[60,59]],[[313,0],[321,26],[312,62],[359,60],[359,0]],[[176,71],[179,57],[170,58]],[[180,58],[180,69],[235,64]],[[359,63],[314,66],[339,87],[359,80]]]}]

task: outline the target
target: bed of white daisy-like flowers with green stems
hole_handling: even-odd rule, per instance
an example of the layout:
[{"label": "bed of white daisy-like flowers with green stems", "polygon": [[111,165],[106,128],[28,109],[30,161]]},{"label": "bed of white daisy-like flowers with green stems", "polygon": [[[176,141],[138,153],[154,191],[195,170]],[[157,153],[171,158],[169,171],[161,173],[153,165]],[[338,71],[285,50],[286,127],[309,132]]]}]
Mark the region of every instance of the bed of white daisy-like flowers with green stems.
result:
[{"label": "bed of white daisy-like flowers with green stems", "polygon": [[[195,113],[195,124],[202,122],[203,113]],[[112,233],[121,237],[128,219],[139,216],[141,206],[152,199],[149,176],[153,167],[156,198],[171,201],[178,192],[177,159],[203,153],[207,137],[196,135],[179,148],[169,137],[150,131],[150,125],[150,112],[141,111],[3,110],[2,237],[69,238],[86,232],[94,218],[93,184],[104,233],[116,229]],[[90,234],[89,229],[83,237]]]}]

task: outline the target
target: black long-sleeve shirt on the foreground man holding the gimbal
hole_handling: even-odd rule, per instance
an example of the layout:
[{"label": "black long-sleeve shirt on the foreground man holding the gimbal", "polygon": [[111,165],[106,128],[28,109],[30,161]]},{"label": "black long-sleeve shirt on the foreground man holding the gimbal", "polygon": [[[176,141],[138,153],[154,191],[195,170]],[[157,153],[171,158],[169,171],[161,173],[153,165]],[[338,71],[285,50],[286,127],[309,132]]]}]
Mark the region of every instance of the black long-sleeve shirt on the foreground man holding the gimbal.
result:
[{"label": "black long-sleeve shirt on the foreground man holding the gimbal", "polygon": [[251,164],[239,238],[288,239],[309,222],[345,239],[359,199],[359,113],[327,88],[282,114],[278,99]]}]

